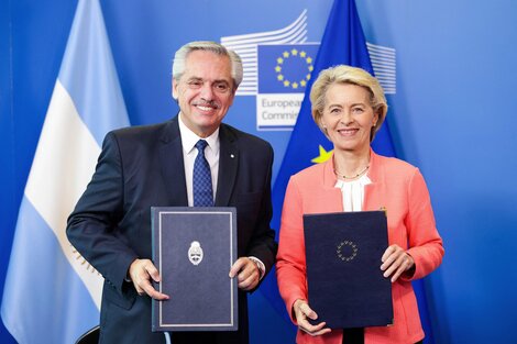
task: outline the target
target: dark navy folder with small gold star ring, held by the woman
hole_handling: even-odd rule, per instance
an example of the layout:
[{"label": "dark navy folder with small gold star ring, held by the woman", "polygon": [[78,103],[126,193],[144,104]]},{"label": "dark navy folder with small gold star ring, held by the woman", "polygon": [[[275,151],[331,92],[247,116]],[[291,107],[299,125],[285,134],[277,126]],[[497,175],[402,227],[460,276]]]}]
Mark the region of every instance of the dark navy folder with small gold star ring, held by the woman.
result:
[{"label": "dark navy folder with small gold star ring, held by the woman", "polygon": [[309,306],[330,329],[393,323],[392,282],[381,258],[388,246],[384,211],[304,215]]}]

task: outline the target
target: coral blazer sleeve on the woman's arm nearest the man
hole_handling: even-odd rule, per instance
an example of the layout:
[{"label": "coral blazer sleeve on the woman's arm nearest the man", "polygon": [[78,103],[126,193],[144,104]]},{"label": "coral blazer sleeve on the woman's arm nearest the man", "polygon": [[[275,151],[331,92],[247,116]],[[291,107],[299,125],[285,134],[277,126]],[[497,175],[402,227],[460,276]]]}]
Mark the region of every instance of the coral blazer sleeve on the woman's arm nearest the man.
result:
[{"label": "coral blazer sleeve on the woman's arm nearest the man", "polygon": [[295,323],[293,304],[297,299],[307,300],[308,297],[302,221],[301,196],[296,179],[292,177],[282,211],[276,278],[287,313]]}]

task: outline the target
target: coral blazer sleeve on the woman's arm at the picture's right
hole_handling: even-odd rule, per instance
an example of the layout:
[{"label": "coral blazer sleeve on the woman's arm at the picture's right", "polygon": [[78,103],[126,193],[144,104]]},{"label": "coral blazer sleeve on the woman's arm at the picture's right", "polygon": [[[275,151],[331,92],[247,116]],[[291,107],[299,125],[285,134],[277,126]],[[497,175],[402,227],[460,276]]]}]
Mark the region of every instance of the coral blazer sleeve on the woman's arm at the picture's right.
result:
[{"label": "coral blazer sleeve on the woman's arm at the picture's right", "polygon": [[442,262],[444,249],[438,233],[429,191],[422,175],[415,169],[408,186],[409,255],[415,259],[415,274],[409,279],[422,278],[432,273]]}]

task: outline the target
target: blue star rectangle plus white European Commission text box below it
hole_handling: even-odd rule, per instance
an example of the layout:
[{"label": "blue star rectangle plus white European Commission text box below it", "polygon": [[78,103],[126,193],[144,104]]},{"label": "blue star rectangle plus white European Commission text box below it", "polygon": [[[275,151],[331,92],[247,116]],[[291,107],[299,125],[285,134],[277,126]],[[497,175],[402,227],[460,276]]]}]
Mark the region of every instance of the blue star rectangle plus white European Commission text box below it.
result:
[{"label": "blue star rectangle plus white European Commission text box below it", "polygon": [[290,130],[312,75],[319,44],[257,45],[257,127]]}]

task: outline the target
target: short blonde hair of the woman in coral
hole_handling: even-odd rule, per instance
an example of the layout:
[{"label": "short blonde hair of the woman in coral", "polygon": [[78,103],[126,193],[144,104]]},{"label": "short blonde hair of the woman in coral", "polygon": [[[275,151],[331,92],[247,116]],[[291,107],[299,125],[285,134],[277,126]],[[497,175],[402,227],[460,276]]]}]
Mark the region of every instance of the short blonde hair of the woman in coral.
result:
[{"label": "short blonde hair of the woman in coral", "polygon": [[312,119],[327,137],[327,130],[321,124],[321,116],[323,115],[324,109],[324,96],[329,87],[333,84],[356,85],[369,91],[370,106],[374,113],[378,114],[377,123],[372,127],[370,133],[370,142],[372,142],[375,134],[381,129],[387,112],[386,97],[384,96],[381,84],[366,70],[346,65],[321,70],[310,90],[310,103],[312,104]]}]

